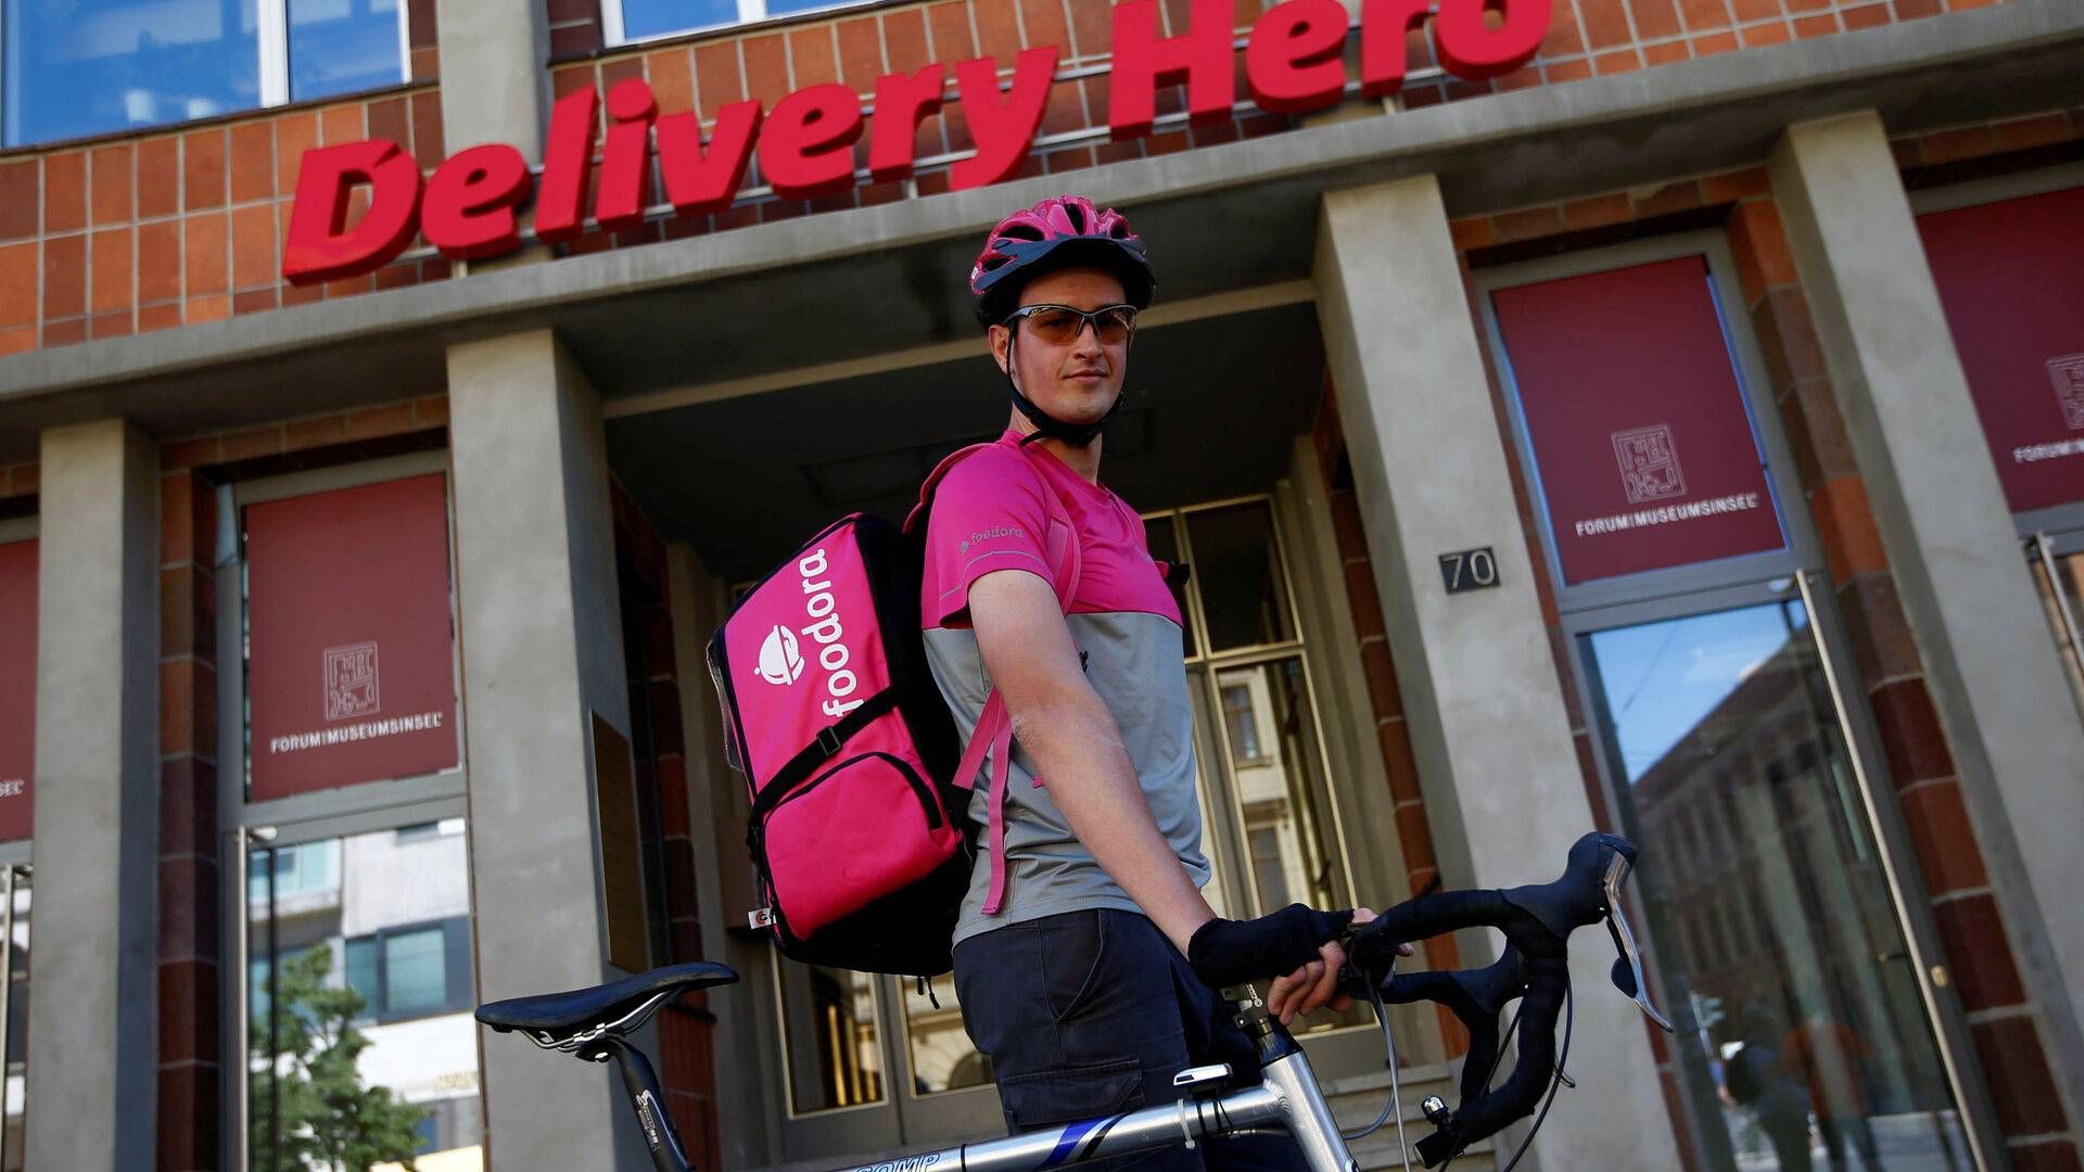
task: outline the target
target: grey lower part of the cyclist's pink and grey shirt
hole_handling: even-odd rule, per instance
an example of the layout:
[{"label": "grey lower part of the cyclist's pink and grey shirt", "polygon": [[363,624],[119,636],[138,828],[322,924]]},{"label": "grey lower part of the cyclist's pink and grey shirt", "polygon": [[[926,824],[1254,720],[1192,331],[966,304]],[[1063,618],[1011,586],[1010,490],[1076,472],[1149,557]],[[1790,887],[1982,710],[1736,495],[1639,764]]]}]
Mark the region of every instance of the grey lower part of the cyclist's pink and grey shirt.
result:
[{"label": "grey lower part of the cyclist's pink and grey shirt", "polygon": [[[1121,726],[1121,742],[1136,765],[1150,815],[1194,886],[1209,882],[1209,859],[1200,851],[1200,801],[1194,790],[1194,709],[1180,657],[1180,626],[1163,615],[1096,613],[1069,615],[1071,640],[1086,653],[1086,680]],[[977,636],[969,630],[925,632],[934,682],[969,740],[990,694]],[[1007,924],[1119,907],[1140,911],[1134,899],[1077,840],[1050,797],[1048,778],[1034,784],[1034,763],[1015,744],[1007,778],[1007,895],[996,915],[984,913],[992,886],[990,836],[979,834],[977,863],[969,874],[969,895],[954,926],[954,943]],[[992,770],[977,772],[969,815],[990,826]]]}]

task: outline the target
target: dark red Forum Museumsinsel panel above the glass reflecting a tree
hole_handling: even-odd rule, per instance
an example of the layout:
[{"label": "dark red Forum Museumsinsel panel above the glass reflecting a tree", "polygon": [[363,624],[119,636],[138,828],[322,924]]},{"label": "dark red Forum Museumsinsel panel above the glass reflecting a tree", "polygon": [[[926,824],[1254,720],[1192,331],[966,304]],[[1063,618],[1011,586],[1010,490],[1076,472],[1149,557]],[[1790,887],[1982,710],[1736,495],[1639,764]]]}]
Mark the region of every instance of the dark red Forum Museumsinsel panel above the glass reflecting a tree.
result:
[{"label": "dark red Forum Museumsinsel panel above the glass reflecting a tree", "polygon": [[252,801],[456,765],[442,475],[246,509]]}]

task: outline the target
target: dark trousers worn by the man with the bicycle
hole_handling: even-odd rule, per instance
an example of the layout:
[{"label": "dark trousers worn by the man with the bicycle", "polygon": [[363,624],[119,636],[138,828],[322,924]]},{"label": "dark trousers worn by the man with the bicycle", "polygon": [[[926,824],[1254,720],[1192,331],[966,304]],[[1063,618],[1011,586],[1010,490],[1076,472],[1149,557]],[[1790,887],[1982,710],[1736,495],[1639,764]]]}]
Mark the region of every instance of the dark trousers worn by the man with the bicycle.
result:
[{"label": "dark trousers worn by the man with the bicycle", "polygon": [[[1046,915],[971,936],[954,949],[963,1026],[990,1055],[1015,1132],[1171,1103],[1188,1066],[1227,1061],[1259,1080],[1252,1043],[1157,926],[1134,911]],[[1092,1164],[1138,1172],[1290,1172],[1288,1137],[1240,1137]]]}]

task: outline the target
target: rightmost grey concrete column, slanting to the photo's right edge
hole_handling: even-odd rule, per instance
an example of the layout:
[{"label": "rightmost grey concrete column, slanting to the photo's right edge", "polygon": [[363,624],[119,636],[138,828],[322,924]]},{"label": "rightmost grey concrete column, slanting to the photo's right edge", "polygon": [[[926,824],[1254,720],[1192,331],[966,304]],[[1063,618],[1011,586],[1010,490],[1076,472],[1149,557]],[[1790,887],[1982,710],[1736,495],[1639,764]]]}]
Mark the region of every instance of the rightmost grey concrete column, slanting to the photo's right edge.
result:
[{"label": "rightmost grey concrete column, slanting to the photo's right edge", "polygon": [[[1790,127],[1773,198],[2049,1057],[2084,1086],[2084,728],[1882,119]],[[2053,244],[2053,242],[2051,242]]]}]

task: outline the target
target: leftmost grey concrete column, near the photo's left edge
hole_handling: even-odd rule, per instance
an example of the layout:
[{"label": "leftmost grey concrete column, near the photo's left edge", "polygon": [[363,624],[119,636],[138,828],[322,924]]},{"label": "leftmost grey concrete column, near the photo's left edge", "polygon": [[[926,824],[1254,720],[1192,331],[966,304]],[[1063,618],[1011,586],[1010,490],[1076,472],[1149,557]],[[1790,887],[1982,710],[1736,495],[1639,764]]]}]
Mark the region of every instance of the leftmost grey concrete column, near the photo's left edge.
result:
[{"label": "leftmost grey concrete column, near the photo's left edge", "polygon": [[158,1086],[158,453],[44,432],[29,1168],[150,1168]]}]

